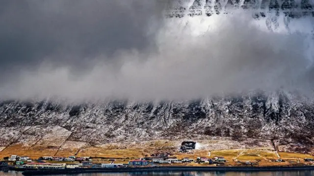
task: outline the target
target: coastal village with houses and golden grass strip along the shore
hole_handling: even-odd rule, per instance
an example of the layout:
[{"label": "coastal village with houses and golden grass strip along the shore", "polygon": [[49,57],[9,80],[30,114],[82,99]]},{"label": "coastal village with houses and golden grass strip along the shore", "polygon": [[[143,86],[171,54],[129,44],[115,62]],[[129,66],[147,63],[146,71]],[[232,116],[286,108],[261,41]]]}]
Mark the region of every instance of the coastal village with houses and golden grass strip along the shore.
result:
[{"label": "coastal village with houses and golden grass strip along the shore", "polygon": [[[134,157],[121,156],[19,156],[11,154],[0,158],[0,168],[27,169],[77,169],[77,168],[127,168],[156,166],[312,166],[310,154],[277,153],[266,150],[222,150],[199,152],[195,142],[184,141],[177,153],[157,150],[153,154]],[[197,152],[198,151],[198,152]],[[282,155],[282,157],[280,157]],[[262,158],[262,159],[260,159]]]}]

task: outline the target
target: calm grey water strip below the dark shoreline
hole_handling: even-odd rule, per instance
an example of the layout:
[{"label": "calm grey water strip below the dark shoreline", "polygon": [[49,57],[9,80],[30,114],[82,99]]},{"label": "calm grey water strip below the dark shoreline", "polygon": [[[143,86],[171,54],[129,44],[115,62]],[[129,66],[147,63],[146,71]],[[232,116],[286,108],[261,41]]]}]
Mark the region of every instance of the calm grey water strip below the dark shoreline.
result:
[{"label": "calm grey water strip below the dark shoreline", "polygon": [[[0,171],[0,176],[23,176],[21,172]],[[55,176],[314,176],[314,171],[287,172],[138,172],[138,173],[93,173]]]}]

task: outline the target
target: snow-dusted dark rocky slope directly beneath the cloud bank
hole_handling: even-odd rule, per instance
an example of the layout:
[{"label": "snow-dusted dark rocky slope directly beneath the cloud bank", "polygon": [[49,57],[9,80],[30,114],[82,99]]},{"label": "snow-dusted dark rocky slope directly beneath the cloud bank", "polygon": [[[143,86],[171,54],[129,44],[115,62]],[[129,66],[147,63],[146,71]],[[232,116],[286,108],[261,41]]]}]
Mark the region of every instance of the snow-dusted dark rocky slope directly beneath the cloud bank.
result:
[{"label": "snow-dusted dark rocky slope directly beneath the cloud bank", "polygon": [[[284,92],[183,102],[2,101],[0,145],[27,143],[60,126],[69,131],[66,140],[92,145],[225,136],[270,139],[279,150],[311,152],[313,116],[313,102]],[[34,127],[41,129],[25,136]]]}]

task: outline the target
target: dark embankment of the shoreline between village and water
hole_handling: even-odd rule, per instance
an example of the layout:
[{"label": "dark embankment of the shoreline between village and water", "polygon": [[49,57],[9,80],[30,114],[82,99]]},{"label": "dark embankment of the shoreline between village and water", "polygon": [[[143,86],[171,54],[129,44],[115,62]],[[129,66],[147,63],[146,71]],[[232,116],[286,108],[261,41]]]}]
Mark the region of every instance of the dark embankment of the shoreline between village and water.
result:
[{"label": "dark embankment of the shoreline between village and water", "polygon": [[314,170],[314,166],[272,166],[272,167],[199,167],[199,166],[157,166],[134,168],[85,168],[60,170],[25,171],[24,176],[81,174],[81,173],[123,173],[123,172],[169,172],[169,171],[222,171],[222,172],[262,172],[262,171],[298,171]]}]

